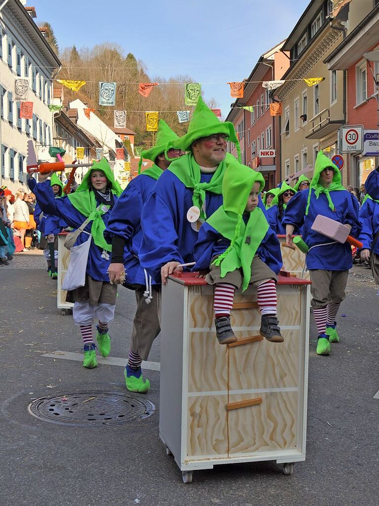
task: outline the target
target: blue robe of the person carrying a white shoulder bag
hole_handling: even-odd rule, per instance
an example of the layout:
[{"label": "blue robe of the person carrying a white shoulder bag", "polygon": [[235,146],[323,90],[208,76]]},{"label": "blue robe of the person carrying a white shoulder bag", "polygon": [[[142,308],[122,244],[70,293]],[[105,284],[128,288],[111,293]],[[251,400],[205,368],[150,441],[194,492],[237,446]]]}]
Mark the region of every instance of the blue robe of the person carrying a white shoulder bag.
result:
[{"label": "blue robe of the person carrying a white shoulder bag", "polygon": [[[79,228],[80,225],[86,221],[87,217],[79,213],[76,207],[71,204],[67,196],[61,198],[54,197],[53,190],[50,186],[50,181],[36,183],[34,179],[29,179],[29,188],[34,193],[35,198],[37,199],[38,204],[44,213],[61,218],[67,223],[69,227],[72,227],[73,229]],[[113,198],[114,202],[116,202],[117,196],[113,195]],[[97,205],[100,203],[101,202],[97,202]],[[110,213],[108,211],[108,213],[105,213],[102,216],[105,226],[108,224],[109,215]],[[91,233],[91,226],[92,222],[87,225],[85,231]],[[78,236],[75,245],[82,244],[87,240],[88,234],[83,232]],[[107,270],[110,264],[110,260],[101,258],[102,252],[103,249],[97,246],[92,239],[90,252],[88,255],[86,273],[97,281],[105,281],[109,283]]]}]

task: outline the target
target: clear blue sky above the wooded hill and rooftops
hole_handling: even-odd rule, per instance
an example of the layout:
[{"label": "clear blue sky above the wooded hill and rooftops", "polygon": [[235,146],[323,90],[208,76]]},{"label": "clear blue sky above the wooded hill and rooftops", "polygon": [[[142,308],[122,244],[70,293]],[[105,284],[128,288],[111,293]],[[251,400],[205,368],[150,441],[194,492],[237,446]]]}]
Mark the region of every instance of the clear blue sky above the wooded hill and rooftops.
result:
[{"label": "clear blue sky above the wooded hill and rooftops", "polygon": [[[59,48],[117,43],[147,72],[190,75],[204,99],[225,117],[233,98],[228,81],[248,77],[258,58],[289,35],[309,0],[28,0],[37,22],[48,21]],[[236,8],[238,6],[238,9]]]}]

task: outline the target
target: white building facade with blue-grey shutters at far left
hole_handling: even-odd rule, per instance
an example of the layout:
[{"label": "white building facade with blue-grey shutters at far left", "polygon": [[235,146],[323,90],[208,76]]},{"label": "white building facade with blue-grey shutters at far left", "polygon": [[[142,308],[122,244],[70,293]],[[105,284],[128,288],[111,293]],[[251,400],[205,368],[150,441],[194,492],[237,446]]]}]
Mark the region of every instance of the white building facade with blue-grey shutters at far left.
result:
[{"label": "white building facade with blue-grey shutters at far left", "polygon": [[[0,11],[0,186],[16,191],[26,183],[26,145],[33,140],[39,159],[53,144],[52,77],[60,69],[57,55],[20,0],[9,0]],[[20,119],[14,96],[15,79],[29,80],[27,102],[32,119]]]}]

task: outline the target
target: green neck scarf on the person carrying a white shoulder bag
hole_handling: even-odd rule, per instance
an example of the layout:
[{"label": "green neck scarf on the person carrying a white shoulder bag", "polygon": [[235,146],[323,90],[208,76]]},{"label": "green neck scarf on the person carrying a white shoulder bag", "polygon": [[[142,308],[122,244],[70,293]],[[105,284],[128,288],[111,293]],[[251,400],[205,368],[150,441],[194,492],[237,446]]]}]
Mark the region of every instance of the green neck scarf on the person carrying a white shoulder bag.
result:
[{"label": "green neck scarf on the person carrying a white shoulder bag", "polygon": [[[111,190],[113,194],[115,192]],[[96,202],[96,197],[93,191],[90,190],[82,190],[77,191],[75,193],[69,193],[67,195],[71,204],[86,218],[90,218],[92,220],[91,226],[91,234],[94,239],[94,243],[100,248],[106,249],[107,251],[112,251],[111,244],[108,244],[104,239],[104,230],[105,224],[102,219],[103,214],[108,212],[110,205],[100,204],[100,208],[97,209],[98,205]],[[103,211],[102,209],[105,209]]]}]

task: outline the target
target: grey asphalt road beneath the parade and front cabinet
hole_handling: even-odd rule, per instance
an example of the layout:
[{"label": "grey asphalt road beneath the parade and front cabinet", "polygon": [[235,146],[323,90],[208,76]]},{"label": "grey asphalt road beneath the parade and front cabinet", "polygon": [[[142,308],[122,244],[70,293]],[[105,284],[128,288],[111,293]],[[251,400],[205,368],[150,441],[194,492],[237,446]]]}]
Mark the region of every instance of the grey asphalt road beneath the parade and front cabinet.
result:
[{"label": "grey asphalt road beneath the parade and front cabinet", "polygon": [[[329,357],[316,355],[311,318],[306,461],[292,476],[262,462],[198,471],[184,484],[158,437],[158,371],[145,371],[152,383],[146,397],[156,411],[143,420],[78,428],[28,413],[31,399],[45,395],[126,392],[122,366],[87,370],[78,361],[42,356],[81,348],[71,316],[56,309],[56,282],[44,269],[36,254],[16,255],[0,268],[1,506],[377,506],[379,298],[369,271],[354,268],[349,277],[342,340]],[[112,356],[125,362],[134,308],[133,292],[120,289]],[[159,338],[149,360],[159,362]]]}]

